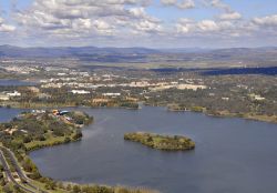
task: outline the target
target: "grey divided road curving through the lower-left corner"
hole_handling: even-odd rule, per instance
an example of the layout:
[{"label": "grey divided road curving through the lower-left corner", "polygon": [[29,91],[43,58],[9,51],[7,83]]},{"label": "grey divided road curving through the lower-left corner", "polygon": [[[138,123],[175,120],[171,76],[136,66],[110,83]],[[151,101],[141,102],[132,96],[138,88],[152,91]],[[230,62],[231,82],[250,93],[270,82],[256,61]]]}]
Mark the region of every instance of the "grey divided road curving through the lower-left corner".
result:
[{"label": "grey divided road curving through the lower-left corner", "polygon": [[[20,177],[21,182],[24,182],[25,186],[19,184],[16,179],[12,176],[12,172],[10,171],[10,167],[7,163],[7,160],[4,158],[4,153],[10,158],[11,160],[11,164],[14,166],[17,173],[18,173],[18,176]],[[9,176],[9,179],[16,184],[18,185],[21,190],[23,191],[27,191],[27,192],[32,192],[32,193],[48,193],[45,191],[42,191],[40,190],[39,187],[34,186],[33,184],[30,183],[30,179],[28,179],[28,176],[25,175],[25,173],[22,171],[22,169],[20,167],[14,154],[12,151],[10,151],[9,149],[7,148],[3,148],[3,146],[0,146],[0,154],[1,154],[1,161],[3,163],[3,167],[4,167],[4,171],[7,173],[7,175]]]}]

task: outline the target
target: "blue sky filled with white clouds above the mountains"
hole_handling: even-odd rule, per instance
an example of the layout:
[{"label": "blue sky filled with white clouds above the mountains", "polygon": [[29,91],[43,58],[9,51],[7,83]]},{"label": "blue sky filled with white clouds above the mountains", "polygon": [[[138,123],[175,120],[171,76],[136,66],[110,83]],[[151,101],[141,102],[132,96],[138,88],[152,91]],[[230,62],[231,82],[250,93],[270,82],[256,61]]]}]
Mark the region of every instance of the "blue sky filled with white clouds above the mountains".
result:
[{"label": "blue sky filled with white clouds above the mountains", "polygon": [[276,0],[0,0],[0,44],[277,45]]}]

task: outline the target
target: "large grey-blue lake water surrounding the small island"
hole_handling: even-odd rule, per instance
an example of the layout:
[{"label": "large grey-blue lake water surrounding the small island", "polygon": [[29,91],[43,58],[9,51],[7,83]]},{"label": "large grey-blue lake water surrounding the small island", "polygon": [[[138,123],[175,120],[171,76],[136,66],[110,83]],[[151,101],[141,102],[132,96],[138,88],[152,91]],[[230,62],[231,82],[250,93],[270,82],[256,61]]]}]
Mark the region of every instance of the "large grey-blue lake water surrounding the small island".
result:
[{"label": "large grey-blue lake water surrounding the small island", "polygon": [[[43,175],[164,193],[277,192],[276,124],[150,106],[79,110],[95,118],[83,130],[82,141],[30,154]],[[124,141],[123,134],[132,131],[184,134],[196,142],[196,149],[152,150]]]}]

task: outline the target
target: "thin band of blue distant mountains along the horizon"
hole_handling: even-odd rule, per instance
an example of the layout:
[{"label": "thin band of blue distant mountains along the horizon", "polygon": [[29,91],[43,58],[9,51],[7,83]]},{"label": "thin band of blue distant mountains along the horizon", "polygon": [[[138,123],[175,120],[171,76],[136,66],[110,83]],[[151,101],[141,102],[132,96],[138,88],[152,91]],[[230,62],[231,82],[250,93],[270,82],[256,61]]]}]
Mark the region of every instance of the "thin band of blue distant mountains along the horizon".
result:
[{"label": "thin band of blue distant mountains along the horizon", "polygon": [[52,47],[52,48],[22,48],[9,44],[0,45],[0,57],[8,58],[63,58],[63,57],[88,57],[94,54],[163,54],[163,53],[217,53],[217,54],[245,54],[260,52],[277,52],[277,47],[261,48],[229,48],[229,49],[147,49],[147,48],[98,48],[98,47]]}]

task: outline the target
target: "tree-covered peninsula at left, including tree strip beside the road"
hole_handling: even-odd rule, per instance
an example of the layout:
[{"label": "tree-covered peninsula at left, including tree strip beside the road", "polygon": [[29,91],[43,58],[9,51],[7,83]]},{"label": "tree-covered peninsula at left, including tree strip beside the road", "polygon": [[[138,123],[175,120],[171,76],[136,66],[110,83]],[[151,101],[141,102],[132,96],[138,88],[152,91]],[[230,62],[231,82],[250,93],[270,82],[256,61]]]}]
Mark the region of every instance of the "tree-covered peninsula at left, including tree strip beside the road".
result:
[{"label": "tree-covered peninsula at left, including tree strip beside the road", "polygon": [[[23,156],[27,151],[32,150],[27,149],[27,144],[35,142],[33,148],[37,149],[81,139],[82,132],[75,123],[89,124],[93,118],[83,112],[71,112],[68,116],[71,116],[72,123],[64,122],[50,112],[39,114],[24,112],[10,122],[0,124],[0,141],[14,152],[32,177],[40,177],[37,166],[30,159]],[[52,140],[60,136],[63,136],[64,140]]]}]

